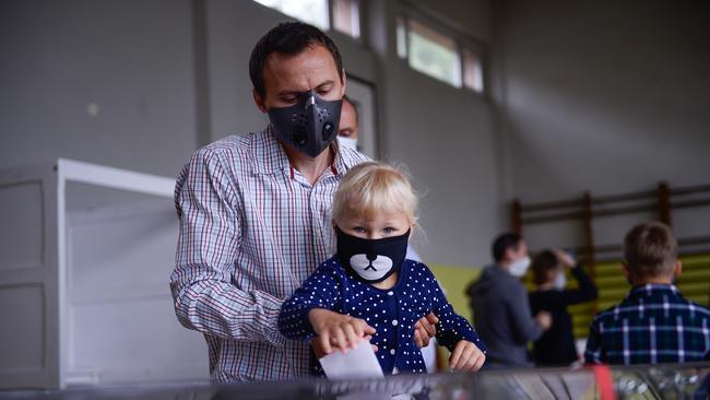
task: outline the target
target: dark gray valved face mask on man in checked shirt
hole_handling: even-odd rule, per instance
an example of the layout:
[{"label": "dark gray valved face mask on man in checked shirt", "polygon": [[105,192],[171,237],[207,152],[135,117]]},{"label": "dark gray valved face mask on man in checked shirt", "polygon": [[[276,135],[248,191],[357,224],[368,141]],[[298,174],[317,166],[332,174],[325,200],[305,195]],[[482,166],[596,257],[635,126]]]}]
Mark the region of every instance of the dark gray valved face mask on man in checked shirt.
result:
[{"label": "dark gray valved face mask on man in checked shirt", "polygon": [[316,157],[338,136],[342,105],[342,99],[328,102],[308,91],[293,106],[270,108],[269,119],[276,139]]}]

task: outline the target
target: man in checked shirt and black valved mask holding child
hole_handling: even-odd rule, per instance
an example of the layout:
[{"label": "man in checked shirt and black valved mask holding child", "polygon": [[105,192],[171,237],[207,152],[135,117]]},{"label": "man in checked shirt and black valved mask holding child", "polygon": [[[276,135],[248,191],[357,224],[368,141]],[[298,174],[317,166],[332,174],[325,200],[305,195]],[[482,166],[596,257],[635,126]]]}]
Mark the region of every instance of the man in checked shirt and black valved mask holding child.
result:
[{"label": "man in checked shirt and black valved mask holding child", "polygon": [[[338,48],[318,28],[294,22],[271,30],[251,52],[249,75],[270,126],[200,149],[175,193],[175,311],[204,334],[215,383],[309,374],[310,349],[281,336],[279,311],[331,256],[333,192],[367,160],[333,143],[346,78]],[[419,326],[421,345],[434,327],[426,318]]]}]

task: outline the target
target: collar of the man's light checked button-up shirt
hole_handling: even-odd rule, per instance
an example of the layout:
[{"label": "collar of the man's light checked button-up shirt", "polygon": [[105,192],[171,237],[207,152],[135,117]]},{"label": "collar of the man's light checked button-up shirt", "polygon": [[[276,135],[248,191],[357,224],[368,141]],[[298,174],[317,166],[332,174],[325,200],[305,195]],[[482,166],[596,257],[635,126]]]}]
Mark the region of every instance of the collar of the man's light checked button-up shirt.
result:
[{"label": "collar of the man's light checked button-up shirt", "polygon": [[[358,164],[356,153],[350,149],[341,149],[338,141],[330,144],[335,152],[331,170],[333,175],[343,175],[354,165]],[[262,131],[262,134],[255,137],[251,142],[251,154],[257,174],[273,174],[277,170],[289,170],[291,163],[284,146],[273,134],[271,125]]]}]

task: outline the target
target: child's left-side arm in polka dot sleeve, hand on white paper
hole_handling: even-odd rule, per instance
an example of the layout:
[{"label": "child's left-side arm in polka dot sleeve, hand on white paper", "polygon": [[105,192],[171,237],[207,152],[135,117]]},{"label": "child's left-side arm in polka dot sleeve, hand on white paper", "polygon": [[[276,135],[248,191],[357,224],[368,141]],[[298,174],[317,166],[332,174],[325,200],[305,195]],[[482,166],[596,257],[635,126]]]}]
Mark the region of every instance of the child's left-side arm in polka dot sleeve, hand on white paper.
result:
[{"label": "child's left-side arm in polka dot sleeve, hand on white paper", "polygon": [[346,351],[375,329],[359,318],[333,311],[340,309],[341,282],[332,268],[321,266],[281,307],[279,330],[288,339],[310,341],[318,353],[331,346]]}]

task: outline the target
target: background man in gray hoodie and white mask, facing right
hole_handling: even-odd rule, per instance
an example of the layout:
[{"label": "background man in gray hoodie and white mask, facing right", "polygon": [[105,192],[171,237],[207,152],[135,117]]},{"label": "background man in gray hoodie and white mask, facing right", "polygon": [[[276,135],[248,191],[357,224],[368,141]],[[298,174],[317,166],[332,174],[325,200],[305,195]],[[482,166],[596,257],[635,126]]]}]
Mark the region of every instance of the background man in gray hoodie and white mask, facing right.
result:
[{"label": "background man in gray hoodie and white mask, facing right", "polygon": [[507,233],[493,243],[495,263],[468,289],[474,326],[488,348],[487,367],[528,367],[528,343],[552,325],[549,313],[534,318],[520,278],[530,266],[528,246],[520,235]]}]

